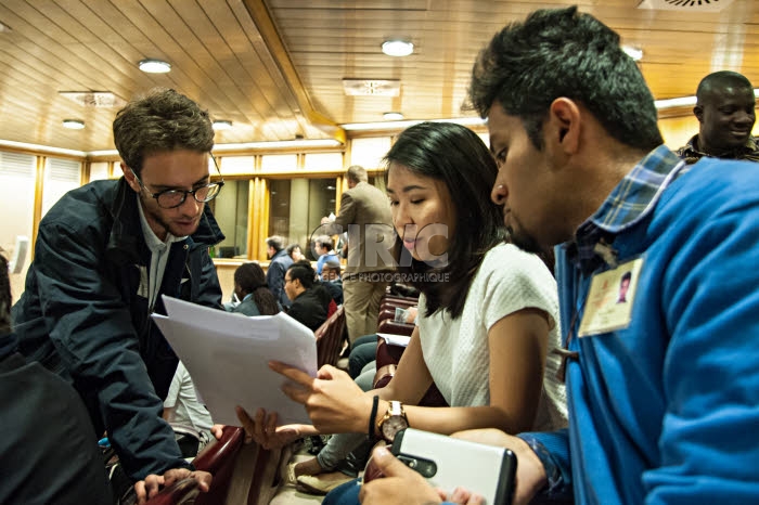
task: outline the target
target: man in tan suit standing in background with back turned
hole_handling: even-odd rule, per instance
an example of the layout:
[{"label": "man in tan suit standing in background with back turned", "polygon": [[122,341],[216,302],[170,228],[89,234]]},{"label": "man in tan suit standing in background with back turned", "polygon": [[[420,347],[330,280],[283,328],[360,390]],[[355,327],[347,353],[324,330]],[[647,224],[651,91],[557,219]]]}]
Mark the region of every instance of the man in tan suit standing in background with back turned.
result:
[{"label": "man in tan suit standing in background with back turned", "polygon": [[387,195],[369,183],[366,170],[353,165],[346,177],[349,190],[340,197],[339,215],[323,226],[327,235],[348,232],[343,303],[352,342],[377,331],[380,301],[389,285],[384,274],[394,269],[389,249],[395,232]]}]

